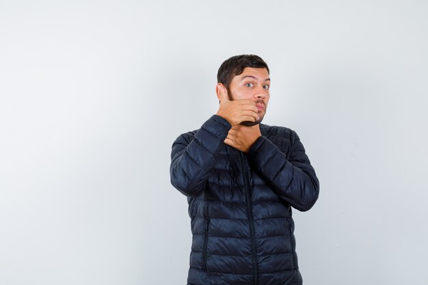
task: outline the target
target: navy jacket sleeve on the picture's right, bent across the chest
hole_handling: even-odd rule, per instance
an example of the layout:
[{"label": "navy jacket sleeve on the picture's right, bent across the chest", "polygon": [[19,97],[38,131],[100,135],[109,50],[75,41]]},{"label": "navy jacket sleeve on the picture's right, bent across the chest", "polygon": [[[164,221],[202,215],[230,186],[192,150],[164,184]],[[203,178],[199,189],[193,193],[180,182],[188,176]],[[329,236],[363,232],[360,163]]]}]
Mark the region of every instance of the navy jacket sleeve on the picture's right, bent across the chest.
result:
[{"label": "navy jacket sleeve on the picture's right, bent across the chest", "polygon": [[273,191],[299,211],[308,211],[317,202],[319,181],[304,146],[292,131],[289,159],[267,137],[259,137],[250,148],[250,161]]}]

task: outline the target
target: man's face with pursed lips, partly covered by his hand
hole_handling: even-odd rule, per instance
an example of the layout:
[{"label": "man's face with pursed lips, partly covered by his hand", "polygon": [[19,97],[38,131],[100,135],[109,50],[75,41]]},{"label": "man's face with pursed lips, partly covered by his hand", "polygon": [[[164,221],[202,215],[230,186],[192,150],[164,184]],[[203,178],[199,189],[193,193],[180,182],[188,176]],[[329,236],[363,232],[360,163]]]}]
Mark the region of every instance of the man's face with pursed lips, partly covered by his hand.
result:
[{"label": "man's face with pursed lips, partly covered by his hand", "polygon": [[269,102],[271,79],[266,68],[244,68],[243,72],[233,77],[228,88],[229,100],[250,99],[256,103],[259,119],[256,122],[242,122],[246,126],[260,123],[266,113]]}]

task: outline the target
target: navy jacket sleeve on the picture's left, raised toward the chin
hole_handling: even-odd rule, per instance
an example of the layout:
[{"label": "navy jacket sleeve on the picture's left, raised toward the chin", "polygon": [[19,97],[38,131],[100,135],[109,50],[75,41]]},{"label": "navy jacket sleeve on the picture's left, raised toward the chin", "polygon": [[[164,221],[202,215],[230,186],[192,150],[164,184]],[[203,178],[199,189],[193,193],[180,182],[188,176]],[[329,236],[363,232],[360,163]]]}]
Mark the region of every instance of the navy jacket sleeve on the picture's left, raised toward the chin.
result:
[{"label": "navy jacket sleeve on the picture's left, raised toward the chin", "polygon": [[171,184],[189,197],[204,191],[209,171],[214,167],[215,155],[224,144],[231,126],[224,118],[213,115],[191,137],[180,135],[172,144]]}]

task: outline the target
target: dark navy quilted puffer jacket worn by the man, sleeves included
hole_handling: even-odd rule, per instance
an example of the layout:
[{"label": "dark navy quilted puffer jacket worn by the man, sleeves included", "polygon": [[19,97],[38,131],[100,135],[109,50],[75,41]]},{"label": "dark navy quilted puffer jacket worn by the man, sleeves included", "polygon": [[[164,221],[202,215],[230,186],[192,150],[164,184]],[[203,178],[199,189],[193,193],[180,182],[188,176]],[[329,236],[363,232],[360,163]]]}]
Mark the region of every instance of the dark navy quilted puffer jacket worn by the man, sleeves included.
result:
[{"label": "dark navy quilted puffer jacket worn by the man, sleeves included", "polygon": [[188,285],[302,284],[291,206],[309,210],[319,182],[289,128],[260,124],[243,153],[212,116],[172,145],[171,182],[187,196],[193,240]]}]

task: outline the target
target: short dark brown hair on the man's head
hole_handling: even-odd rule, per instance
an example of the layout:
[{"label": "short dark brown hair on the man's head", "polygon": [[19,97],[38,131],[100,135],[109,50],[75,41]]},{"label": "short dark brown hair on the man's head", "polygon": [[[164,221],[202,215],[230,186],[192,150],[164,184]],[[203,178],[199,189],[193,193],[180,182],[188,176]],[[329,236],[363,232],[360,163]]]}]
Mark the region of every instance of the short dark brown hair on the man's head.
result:
[{"label": "short dark brown hair on the man's head", "polygon": [[242,74],[246,67],[266,68],[269,73],[266,62],[258,55],[235,55],[226,59],[220,66],[217,72],[217,83],[223,83],[228,88],[232,78]]}]

